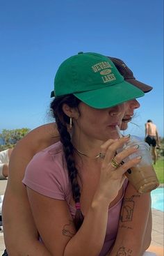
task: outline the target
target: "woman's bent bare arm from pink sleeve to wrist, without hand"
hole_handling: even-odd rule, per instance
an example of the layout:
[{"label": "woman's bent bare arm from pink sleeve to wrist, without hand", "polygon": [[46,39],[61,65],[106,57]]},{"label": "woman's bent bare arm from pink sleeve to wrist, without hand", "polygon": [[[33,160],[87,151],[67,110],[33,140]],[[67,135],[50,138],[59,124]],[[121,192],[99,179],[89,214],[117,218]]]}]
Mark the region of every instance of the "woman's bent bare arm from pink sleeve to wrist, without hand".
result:
[{"label": "woman's bent bare arm from pink sleeve to wrist, without hand", "polygon": [[76,233],[67,202],[45,197],[30,188],[28,188],[28,197],[40,236],[51,255],[99,254],[106,234],[108,218],[106,202],[102,202],[98,197],[92,202],[83,225]]}]

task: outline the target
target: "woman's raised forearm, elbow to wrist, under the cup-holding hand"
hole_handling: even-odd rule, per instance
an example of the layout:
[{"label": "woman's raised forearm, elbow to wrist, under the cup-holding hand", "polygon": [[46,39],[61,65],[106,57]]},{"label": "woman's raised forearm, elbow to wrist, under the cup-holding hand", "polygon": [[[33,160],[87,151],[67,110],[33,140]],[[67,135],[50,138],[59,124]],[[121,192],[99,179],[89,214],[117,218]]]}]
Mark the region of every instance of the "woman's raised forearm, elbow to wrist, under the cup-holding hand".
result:
[{"label": "woman's raised forearm, elbow to wrist, under the cup-holding hand", "polygon": [[96,256],[104,244],[108,220],[108,204],[92,202],[83,225],[67,243],[64,256]]}]

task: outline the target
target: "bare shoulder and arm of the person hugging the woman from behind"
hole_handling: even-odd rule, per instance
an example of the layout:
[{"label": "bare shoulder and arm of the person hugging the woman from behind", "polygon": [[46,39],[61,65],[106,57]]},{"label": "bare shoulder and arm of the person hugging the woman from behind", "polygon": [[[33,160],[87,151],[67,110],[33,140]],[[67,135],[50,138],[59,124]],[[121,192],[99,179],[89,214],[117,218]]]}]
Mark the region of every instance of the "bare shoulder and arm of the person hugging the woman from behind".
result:
[{"label": "bare shoulder and arm of the person hugging the woman from behind", "polygon": [[4,240],[10,256],[50,256],[48,250],[38,241],[38,232],[22,179],[26,165],[35,153],[58,140],[54,123],[49,123],[32,130],[13,150],[8,185],[3,199]]}]

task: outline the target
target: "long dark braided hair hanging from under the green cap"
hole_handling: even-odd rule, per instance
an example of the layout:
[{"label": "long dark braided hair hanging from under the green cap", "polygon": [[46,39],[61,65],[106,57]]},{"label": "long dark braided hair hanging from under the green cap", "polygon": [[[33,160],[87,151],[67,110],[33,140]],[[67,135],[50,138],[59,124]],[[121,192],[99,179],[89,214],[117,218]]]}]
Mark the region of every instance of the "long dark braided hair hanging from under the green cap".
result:
[{"label": "long dark braided hair hanging from under the green cap", "polygon": [[73,153],[74,146],[71,142],[71,137],[67,131],[67,126],[69,124],[69,116],[67,116],[63,112],[63,104],[69,105],[69,107],[78,107],[81,100],[76,98],[73,94],[69,94],[67,96],[56,97],[51,102],[51,112],[53,113],[54,118],[56,119],[56,124],[58,127],[58,132],[60,134],[60,142],[63,144],[63,151],[65,153],[65,160],[67,163],[67,170],[69,180],[72,184],[72,196],[76,205],[76,214],[74,218],[74,225],[76,227],[76,231],[81,227],[83,223],[83,214],[81,212],[80,206],[80,187],[77,181],[79,176],[78,170],[75,165]]}]

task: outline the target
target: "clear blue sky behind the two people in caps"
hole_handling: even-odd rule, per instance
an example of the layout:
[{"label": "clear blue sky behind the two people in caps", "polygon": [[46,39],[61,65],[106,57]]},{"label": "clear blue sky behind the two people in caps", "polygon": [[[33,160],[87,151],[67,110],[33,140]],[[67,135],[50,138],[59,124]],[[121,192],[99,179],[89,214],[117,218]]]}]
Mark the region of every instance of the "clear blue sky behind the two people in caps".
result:
[{"label": "clear blue sky behind the two people in caps", "polygon": [[50,92],[60,63],[77,52],[118,57],[154,86],[139,99],[127,133],[144,136],[152,119],[163,137],[162,0],[8,0],[0,3],[2,129],[53,121]]}]

